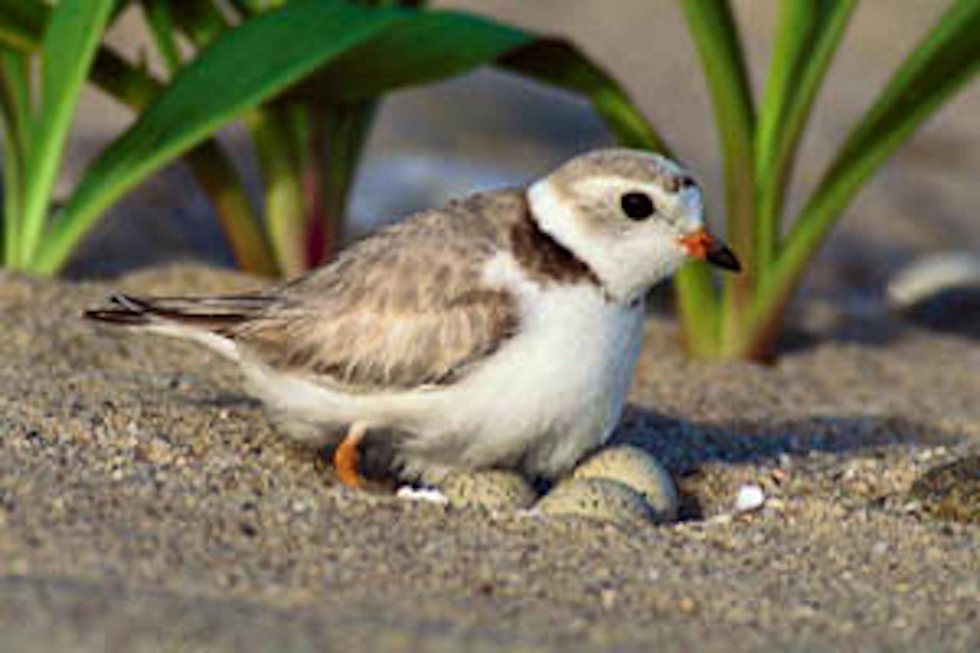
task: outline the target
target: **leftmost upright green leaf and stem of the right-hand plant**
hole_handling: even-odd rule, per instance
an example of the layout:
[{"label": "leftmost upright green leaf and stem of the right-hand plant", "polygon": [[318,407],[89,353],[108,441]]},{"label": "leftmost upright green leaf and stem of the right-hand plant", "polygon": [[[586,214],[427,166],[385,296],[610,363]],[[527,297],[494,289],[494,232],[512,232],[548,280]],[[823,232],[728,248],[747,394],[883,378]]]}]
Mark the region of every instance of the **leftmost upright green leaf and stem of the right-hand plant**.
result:
[{"label": "leftmost upright green leaf and stem of the right-hand plant", "polygon": [[[743,316],[751,306],[756,283],[756,182],[753,176],[756,117],[738,30],[728,2],[684,0],[682,5],[708,75],[717,131],[721,138],[728,209],[726,237],[743,266],[740,275],[726,276],[724,279],[720,330],[714,329],[714,337],[722,339],[719,346],[700,342],[703,337],[711,337],[707,329],[692,333],[688,344],[695,354],[705,351],[724,354],[731,347],[732,336],[743,324]],[[678,291],[708,292],[704,280],[697,283],[692,281],[691,277],[696,274],[692,271],[682,273]],[[682,311],[703,309],[707,304],[706,299],[685,298],[681,300],[680,307]],[[683,316],[682,320],[687,325],[706,322],[706,318],[699,315]]]}]

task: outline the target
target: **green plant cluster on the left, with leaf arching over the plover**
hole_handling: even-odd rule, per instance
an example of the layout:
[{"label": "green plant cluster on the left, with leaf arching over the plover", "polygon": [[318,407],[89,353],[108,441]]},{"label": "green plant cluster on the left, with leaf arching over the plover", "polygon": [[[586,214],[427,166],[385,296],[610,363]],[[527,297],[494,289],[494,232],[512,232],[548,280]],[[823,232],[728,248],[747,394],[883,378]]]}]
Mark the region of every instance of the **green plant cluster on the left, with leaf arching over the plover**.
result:
[{"label": "green plant cluster on the left, with leaf arching over the plover", "polygon": [[[168,78],[102,40],[138,4]],[[105,210],[184,156],[246,271],[293,276],[337,247],[352,180],[387,91],[493,64],[589,97],[626,142],[661,140],[573,46],[419,0],[0,0],[4,265],[52,274]],[[34,97],[30,64],[40,58]],[[139,112],[63,207],[52,189],[85,77]],[[215,139],[241,121],[262,170],[262,210]]]}]

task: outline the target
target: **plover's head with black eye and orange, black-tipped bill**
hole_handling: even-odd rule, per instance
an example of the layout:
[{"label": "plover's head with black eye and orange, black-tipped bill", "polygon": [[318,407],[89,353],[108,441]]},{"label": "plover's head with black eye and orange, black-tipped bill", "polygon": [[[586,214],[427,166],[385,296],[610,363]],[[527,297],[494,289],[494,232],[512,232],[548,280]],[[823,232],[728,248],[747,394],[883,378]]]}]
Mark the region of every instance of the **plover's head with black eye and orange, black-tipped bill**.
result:
[{"label": "plover's head with black eye and orange, black-tipped bill", "polygon": [[586,263],[614,297],[638,297],[689,259],[738,272],[705,227],[701,187],[656,154],[597,150],[528,190],[538,225]]}]

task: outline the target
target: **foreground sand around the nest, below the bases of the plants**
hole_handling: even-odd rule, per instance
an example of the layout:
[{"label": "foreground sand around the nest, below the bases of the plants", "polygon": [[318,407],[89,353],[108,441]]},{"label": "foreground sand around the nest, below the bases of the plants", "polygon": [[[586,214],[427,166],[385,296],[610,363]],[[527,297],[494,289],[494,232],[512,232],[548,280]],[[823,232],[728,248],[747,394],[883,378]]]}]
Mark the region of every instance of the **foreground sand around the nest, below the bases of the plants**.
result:
[{"label": "foreground sand around the nest, below the bases of the plants", "polygon": [[[617,439],[678,479],[684,521],[618,527],[338,487],[216,356],[78,319],[109,290],[0,276],[0,649],[980,646],[980,530],[908,494],[980,451],[968,338],[851,324],[710,366],[652,316]],[[744,484],[766,503],[735,514]]]}]

